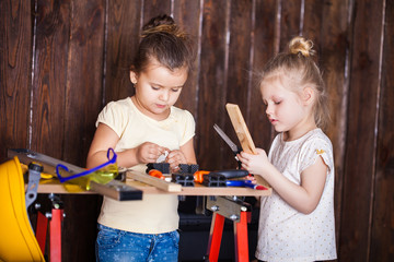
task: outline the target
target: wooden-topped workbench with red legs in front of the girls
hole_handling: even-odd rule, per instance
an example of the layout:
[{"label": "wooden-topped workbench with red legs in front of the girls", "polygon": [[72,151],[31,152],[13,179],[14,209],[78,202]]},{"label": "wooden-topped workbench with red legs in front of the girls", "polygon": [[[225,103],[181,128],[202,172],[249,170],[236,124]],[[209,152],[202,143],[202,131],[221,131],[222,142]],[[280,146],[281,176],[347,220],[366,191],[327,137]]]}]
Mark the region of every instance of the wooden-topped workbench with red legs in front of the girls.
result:
[{"label": "wooden-topped workbench with red legs in front of the girls", "polygon": [[[273,191],[267,184],[266,187],[259,186],[264,188],[263,190],[257,190],[255,187],[207,187],[204,183],[194,183],[193,187],[187,187],[183,186],[183,183],[173,182],[173,177],[170,181],[166,181],[165,178],[161,179],[135,170],[126,170],[120,180],[113,179],[107,183],[90,181],[90,189],[81,190],[79,184],[61,183],[57,178],[43,179],[44,171],[49,176],[56,174],[54,167],[62,163],[59,159],[28,150],[9,150],[9,157],[13,157],[14,163],[19,165],[23,163],[25,165],[28,163],[32,164],[32,162],[34,163],[33,165],[28,165],[25,206],[30,206],[35,201],[37,193],[48,193],[53,202],[50,222],[44,214],[38,212],[37,225],[39,226],[37,226],[36,229],[37,234],[39,234],[39,236],[37,235],[39,247],[42,250],[45,250],[45,240],[43,239],[46,237],[47,225],[48,223],[50,224],[49,248],[50,260],[53,261],[61,261],[61,222],[63,219],[62,203],[61,201],[58,202],[59,199],[55,194],[99,193],[118,201],[139,201],[142,199],[142,194],[206,195],[208,196],[206,198],[206,209],[212,212],[206,261],[218,261],[224,219],[230,219],[234,225],[236,261],[247,262],[250,261],[247,222],[250,219],[251,206],[248,203],[237,199],[237,196],[268,196]],[[62,164],[68,165],[69,172],[83,171],[80,167],[67,163]],[[23,182],[21,169],[21,166],[19,166],[13,177],[20,177],[19,180]],[[212,180],[209,180],[209,182],[212,182]],[[23,207],[24,211],[26,207]]]}]

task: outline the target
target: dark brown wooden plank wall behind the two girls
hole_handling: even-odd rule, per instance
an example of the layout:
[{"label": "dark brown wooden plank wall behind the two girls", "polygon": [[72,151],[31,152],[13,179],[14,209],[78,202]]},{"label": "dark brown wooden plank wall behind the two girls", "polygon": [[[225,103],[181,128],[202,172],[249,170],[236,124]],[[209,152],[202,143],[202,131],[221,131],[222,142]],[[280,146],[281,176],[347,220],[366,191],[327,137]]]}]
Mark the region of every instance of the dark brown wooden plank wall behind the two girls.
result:
[{"label": "dark brown wooden plank wall behind the two girls", "polygon": [[[234,167],[240,105],[257,146],[274,136],[254,72],[289,39],[315,43],[331,94],[339,261],[394,261],[394,1],[0,0],[0,160],[30,148],[84,166],[100,110],[132,95],[141,24],[172,14],[195,36],[195,70],[177,106],[197,122],[198,163]],[[63,260],[94,253],[97,196],[66,196]]]}]

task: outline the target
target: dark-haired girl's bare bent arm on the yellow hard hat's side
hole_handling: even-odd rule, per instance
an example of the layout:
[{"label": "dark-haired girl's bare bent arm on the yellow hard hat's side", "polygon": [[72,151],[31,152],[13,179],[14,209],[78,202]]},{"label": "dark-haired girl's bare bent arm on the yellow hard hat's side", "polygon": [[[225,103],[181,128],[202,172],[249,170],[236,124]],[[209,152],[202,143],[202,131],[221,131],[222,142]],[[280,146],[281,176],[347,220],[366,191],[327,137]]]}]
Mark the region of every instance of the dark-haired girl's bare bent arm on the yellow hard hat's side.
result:
[{"label": "dark-haired girl's bare bent arm on the yellow hard hat's side", "polygon": [[[88,153],[86,167],[92,168],[107,162],[107,150],[115,148],[119,136],[104,123],[100,123]],[[135,148],[118,152],[117,164],[121,167],[131,167],[138,164],[154,163],[167,148],[154,143],[146,142]]]}]

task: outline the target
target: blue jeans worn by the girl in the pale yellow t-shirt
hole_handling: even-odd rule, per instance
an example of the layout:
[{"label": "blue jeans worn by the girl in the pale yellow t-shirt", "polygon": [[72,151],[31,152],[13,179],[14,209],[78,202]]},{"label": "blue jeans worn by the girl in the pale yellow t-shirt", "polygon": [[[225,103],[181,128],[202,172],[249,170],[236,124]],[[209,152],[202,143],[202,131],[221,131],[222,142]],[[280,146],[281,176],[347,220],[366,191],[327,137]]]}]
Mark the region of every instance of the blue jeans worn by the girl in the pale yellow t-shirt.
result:
[{"label": "blue jeans worn by the girl in the pale yellow t-shirt", "polygon": [[178,260],[178,231],[138,234],[99,224],[96,261],[166,261]]}]

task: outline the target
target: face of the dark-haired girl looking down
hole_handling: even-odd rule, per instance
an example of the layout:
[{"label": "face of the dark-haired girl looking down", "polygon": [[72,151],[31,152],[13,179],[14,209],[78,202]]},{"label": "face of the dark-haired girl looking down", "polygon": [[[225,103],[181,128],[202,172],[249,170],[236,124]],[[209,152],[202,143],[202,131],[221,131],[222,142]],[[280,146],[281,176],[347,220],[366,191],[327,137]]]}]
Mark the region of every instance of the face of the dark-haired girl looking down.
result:
[{"label": "face of the dark-haired girl looking down", "polygon": [[152,119],[164,120],[181,95],[187,68],[171,71],[152,59],[139,74],[131,71],[130,80],[136,87],[134,102],[137,108]]}]

